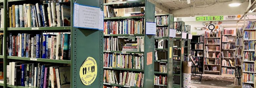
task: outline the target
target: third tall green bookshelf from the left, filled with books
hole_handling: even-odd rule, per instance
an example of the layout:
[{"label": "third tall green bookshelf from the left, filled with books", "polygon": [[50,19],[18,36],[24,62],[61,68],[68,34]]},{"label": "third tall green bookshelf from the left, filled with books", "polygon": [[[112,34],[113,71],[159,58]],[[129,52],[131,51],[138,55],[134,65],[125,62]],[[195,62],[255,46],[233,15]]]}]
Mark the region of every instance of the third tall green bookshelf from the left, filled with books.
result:
[{"label": "third tall green bookshelf from the left, filled with books", "polygon": [[[172,37],[169,37],[169,29],[173,28],[173,15],[172,14],[159,14],[159,15],[156,15],[155,16],[156,19],[155,19],[155,22],[157,23],[157,34],[155,35],[155,58],[154,58],[154,88],[168,88],[169,86],[171,87],[172,85],[172,82],[171,80],[169,80],[171,77],[168,77],[168,76],[171,76],[169,74],[172,74],[169,70],[172,70],[172,68],[169,68],[171,67],[172,65],[171,64],[168,64],[168,63],[171,63],[171,59],[169,59],[169,57],[172,57],[170,56],[169,52],[172,52],[170,51],[170,47],[173,47],[173,38]],[[158,18],[158,19],[157,19]],[[165,19],[165,21],[163,20],[159,20],[159,19]],[[157,21],[159,20],[159,21]],[[166,21],[167,20],[167,21]],[[167,22],[167,23],[166,23]],[[167,29],[166,30],[162,30],[162,29]],[[160,35],[162,33],[167,33],[167,35]],[[165,44],[168,44],[167,46],[163,46],[163,48],[158,48],[159,44],[158,44],[158,41],[161,41],[161,40],[166,40]],[[164,57],[164,58],[162,58]],[[160,72],[160,65],[164,65],[166,66],[166,72]],[[167,84],[164,84],[164,83],[157,83],[155,81],[155,76],[157,77],[167,77],[166,80],[167,80]]]}]

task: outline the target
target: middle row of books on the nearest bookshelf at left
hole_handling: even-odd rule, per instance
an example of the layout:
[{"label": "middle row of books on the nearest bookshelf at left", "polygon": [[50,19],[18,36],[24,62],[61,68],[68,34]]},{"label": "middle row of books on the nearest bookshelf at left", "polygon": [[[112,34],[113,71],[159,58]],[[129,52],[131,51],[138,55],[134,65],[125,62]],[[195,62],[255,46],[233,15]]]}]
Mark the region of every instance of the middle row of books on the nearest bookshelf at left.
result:
[{"label": "middle row of books on the nearest bookshelf at left", "polygon": [[9,56],[70,60],[70,33],[9,34]]}]

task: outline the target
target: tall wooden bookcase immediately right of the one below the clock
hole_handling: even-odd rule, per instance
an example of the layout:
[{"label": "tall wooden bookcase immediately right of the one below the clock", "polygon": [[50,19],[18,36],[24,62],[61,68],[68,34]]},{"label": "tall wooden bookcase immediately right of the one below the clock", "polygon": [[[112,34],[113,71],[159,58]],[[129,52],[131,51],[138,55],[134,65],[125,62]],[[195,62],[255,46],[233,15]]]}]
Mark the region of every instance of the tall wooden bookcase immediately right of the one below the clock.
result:
[{"label": "tall wooden bookcase immediately right of the one below the clock", "polygon": [[235,57],[236,57],[236,30],[224,29],[222,31],[221,56],[222,71],[221,75],[234,77],[235,75]]}]

